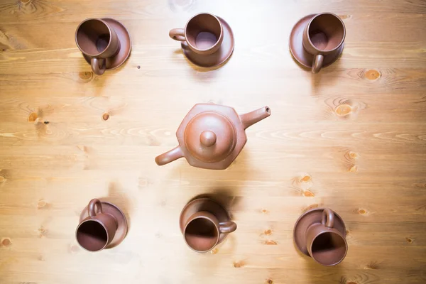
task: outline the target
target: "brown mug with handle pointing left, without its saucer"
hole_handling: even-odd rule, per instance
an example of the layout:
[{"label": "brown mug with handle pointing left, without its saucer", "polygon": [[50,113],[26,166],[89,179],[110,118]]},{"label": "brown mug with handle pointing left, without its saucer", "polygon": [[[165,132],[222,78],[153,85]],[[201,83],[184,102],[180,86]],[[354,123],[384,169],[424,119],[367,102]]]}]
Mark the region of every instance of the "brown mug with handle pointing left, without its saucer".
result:
[{"label": "brown mug with handle pointing left, without its saucer", "polygon": [[187,22],[185,28],[173,28],[170,38],[186,41],[188,47],[197,54],[209,55],[219,50],[224,40],[224,28],[217,16],[199,13]]}]

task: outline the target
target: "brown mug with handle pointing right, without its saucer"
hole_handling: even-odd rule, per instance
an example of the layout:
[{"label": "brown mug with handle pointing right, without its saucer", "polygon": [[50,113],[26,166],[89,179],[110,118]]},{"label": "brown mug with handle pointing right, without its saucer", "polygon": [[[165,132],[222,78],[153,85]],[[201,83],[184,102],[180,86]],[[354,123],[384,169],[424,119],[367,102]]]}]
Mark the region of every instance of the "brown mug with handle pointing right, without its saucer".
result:
[{"label": "brown mug with handle pointing right, without its saucer", "polygon": [[183,236],[192,250],[206,253],[219,243],[220,234],[228,234],[235,230],[234,222],[221,223],[214,214],[201,211],[187,219]]}]

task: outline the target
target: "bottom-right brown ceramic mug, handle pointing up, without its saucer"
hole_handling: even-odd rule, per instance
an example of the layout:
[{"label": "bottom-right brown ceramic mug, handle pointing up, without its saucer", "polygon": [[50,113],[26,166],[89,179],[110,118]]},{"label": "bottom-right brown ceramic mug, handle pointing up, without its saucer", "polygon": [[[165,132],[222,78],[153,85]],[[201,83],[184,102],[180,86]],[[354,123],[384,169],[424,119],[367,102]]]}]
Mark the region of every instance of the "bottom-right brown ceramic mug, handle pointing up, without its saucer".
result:
[{"label": "bottom-right brown ceramic mug, handle pointing up, without its saucer", "polygon": [[326,208],[321,223],[306,230],[306,248],[310,256],[323,266],[335,266],[343,261],[348,251],[345,237],[334,229],[334,212]]}]

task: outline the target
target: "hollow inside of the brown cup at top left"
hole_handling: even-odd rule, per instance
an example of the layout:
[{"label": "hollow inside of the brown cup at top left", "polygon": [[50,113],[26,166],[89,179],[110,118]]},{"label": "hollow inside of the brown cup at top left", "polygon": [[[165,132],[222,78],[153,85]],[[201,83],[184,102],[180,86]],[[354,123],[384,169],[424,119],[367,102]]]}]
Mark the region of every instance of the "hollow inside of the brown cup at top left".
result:
[{"label": "hollow inside of the brown cup at top left", "polygon": [[80,25],[75,39],[83,53],[96,56],[107,49],[111,35],[108,26],[103,21],[90,19]]}]

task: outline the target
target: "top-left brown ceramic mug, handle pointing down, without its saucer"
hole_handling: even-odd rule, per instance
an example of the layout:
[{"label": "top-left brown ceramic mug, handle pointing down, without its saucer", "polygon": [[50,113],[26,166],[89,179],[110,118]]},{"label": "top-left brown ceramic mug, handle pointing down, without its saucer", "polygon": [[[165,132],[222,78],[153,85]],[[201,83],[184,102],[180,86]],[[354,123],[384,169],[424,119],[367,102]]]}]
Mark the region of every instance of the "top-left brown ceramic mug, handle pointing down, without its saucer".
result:
[{"label": "top-left brown ceramic mug, handle pointing down, without its saucer", "polygon": [[90,58],[92,70],[97,75],[107,69],[107,58],[120,50],[120,41],[116,31],[100,18],[88,18],[77,27],[75,42],[84,55]]}]

